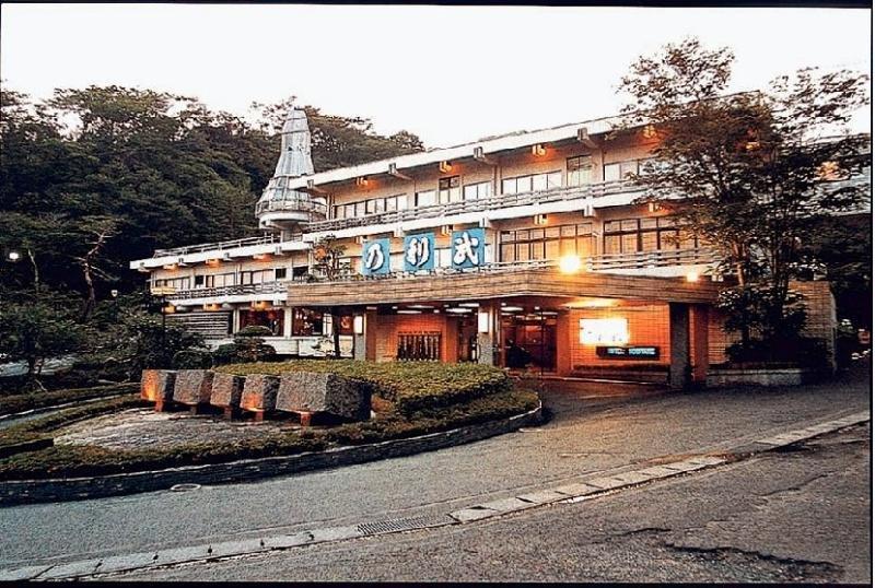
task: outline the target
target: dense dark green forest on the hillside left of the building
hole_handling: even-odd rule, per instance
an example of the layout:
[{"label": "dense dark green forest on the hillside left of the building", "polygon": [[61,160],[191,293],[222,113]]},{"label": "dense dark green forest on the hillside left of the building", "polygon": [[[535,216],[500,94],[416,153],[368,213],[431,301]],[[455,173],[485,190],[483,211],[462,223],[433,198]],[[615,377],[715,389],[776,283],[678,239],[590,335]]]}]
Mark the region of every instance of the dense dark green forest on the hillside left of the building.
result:
[{"label": "dense dark green forest on the hillside left of the building", "polygon": [[[42,284],[106,297],[142,287],[127,269],[153,249],[257,234],[255,201],[291,99],[255,122],[196,98],[119,86],[0,96],[0,294]],[[422,150],[370,120],[305,107],[317,172]],[[4,257],[7,257],[4,255]],[[96,293],[95,293],[96,291]]]}]

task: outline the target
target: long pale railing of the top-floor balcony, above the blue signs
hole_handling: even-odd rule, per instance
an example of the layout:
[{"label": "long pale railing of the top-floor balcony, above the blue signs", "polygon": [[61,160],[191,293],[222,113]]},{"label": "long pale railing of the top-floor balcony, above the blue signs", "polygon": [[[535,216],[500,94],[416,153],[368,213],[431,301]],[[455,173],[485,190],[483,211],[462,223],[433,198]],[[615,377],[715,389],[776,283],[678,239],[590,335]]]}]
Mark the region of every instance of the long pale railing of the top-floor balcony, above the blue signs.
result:
[{"label": "long pale railing of the top-floor balcony, above the blue signs", "polygon": [[447,202],[431,207],[417,207],[406,210],[392,212],[380,212],[365,214],[352,219],[330,219],[311,223],[307,227],[310,232],[339,231],[341,228],[352,228],[374,224],[389,224],[418,219],[444,217],[466,212],[483,212],[511,207],[525,207],[529,204],[546,204],[548,202],[560,202],[563,200],[578,200],[582,198],[600,198],[615,193],[641,192],[640,188],[629,180],[605,181],[600,184],[587,184],[572,188],[553,188],[535,192],[523,192],[515,195],[501,195],[481,200],[464,200],[462,202]]}]

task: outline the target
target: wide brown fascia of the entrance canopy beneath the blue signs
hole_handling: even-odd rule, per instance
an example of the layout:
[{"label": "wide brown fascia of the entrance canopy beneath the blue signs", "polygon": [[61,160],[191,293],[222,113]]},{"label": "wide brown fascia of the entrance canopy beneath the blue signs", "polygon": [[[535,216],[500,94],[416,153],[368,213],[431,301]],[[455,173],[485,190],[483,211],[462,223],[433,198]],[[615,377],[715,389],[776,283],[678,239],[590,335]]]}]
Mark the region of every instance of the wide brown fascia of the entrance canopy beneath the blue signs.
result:
[{"label": "wide brown fascia of the entrance canopy beneath the blue signs", "polygon": [[423,299],[454,302],[537,296],[545,298],[623,298],[643,302],[713,304],[724,287],[710,280],[652,278],[584,272],[563,274],[551,268],[459,272],[441,275],[362,279],[290,284],[290,306],[361,306]]}]

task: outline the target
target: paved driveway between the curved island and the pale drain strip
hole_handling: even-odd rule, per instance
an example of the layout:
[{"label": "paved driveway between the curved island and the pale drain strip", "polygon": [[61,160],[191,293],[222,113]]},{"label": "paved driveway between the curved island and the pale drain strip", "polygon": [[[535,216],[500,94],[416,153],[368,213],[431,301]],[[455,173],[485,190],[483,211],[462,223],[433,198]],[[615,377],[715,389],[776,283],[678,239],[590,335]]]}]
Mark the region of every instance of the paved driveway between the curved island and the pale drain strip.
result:
[{"label": "paved driveway between the curved island and the pale drain strip", "polygon": [[547,425],[431,454],[190,493],[0,508],[0,565],[445,513],[661,456],[736,446],[856,412],[868,399],[867,373],[805,388],[620,403],[551,393]]}]

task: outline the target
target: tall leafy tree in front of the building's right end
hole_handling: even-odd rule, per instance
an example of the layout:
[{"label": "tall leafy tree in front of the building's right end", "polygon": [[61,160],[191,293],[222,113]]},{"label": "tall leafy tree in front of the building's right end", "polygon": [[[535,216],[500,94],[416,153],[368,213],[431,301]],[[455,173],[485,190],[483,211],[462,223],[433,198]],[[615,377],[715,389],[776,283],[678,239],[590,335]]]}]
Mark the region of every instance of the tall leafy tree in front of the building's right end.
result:
[{"label": "tall leafy tree in front of the building's right end", "polygon": [[[615,137],[653,140],[653,158],[632,177],[645,188],[640,201],[673,210],[716,249],[720,269],[737,280],[736,298],[761,316],[756,334],[769,340],[795,320],[791,279],[817,261],[803,245],[866,198],[868,187],[849,179],[866,165],[868,138],[850,134],[847,122],[868,102],[868,78],[809,68],[763,92],[726,95],[733,60],[695,38],[639,58],[620,82],[632,99]],[[737,327],[748,345],[749,324]]]}]

